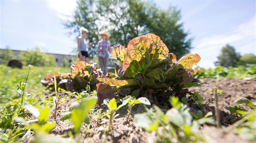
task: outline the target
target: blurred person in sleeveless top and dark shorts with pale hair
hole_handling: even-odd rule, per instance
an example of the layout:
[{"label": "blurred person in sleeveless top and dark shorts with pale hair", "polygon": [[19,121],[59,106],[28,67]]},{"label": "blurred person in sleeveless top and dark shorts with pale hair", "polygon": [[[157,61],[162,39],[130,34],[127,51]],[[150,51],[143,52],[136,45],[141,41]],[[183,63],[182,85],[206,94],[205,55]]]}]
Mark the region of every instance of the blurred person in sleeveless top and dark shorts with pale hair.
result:
[{"label": "blurred person in sleeveless top and dark shorts with pale hair", "polygon": [[[80,61],[85,61],[87,63],[90,62],[89,56],[88,56],[88,50],[87,46],[85,44],[85,38],[88,37],[89,31],[81,27],[79,28],[80,36],[78,37],[78,57]],[[90,43],[88,46],[91,47],[93,43]]]}]

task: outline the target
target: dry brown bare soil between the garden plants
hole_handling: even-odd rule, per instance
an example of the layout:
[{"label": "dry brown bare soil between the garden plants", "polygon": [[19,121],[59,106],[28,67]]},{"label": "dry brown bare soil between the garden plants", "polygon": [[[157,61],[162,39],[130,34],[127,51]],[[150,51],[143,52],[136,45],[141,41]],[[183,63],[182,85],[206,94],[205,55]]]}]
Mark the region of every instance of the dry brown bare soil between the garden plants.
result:
[{"label": "dry brown bare soil between the garden plants", "polygon": [[[249,142],[242,139],[238,135],[235,135],[230,131],[229,126],[236,122],[239,118],[237,116],[231,116],[228,110],[224,106],[234,106],[234,100],[238,97],[246,97],[250,99],[254,105],[256,105],[256,80],[234,80],[234,79],[203,79],[200,80],[202,83],[201,87],[189,88],[191,91],[196,91],[202,95],[204,101],[208,101],[209,98],[213,97],[211,93],[213,88],[217,87],[219,90],[223,90],[223,94],[219,96],[219,111],[221,117],[221,125],[227,126],[217,129],[213,125],[204,125],[203,129],[199,130],[199,134],[206,137],[206,142]],[[67,101],[66,101],[67,102]],[[61,112],[65,113],[69,111],[70,105],[74,102],[74,98],[70,98],[65,106],[61,105]],[[159,103],[161,104],[161,103]],[[208,111],[215,112],[215,104],[204,105],[202,108],[203,114]],[[150,106],[149,106],[150,107]],[[161,109],[167,111],[169,105],[161,104]],[[97,105],[94,107],[94,112],[98,109],[102,109],[102,113],[106,111],[105,105]],[[197,113],[198,109],[190,107],[193,113]],[[146,132],[145,130],[135,127],[133,124],[133,115],[142,113],[144,111],[143,105],[136,105],[132,109],[132,116],[130,116],[129,122],[126,122],[126,109],[120,109],[117,114],[120,114],[113,121],[113,129],[110,132],[105,132],[104,129],[108,126],[109,120],[104,117],[102,120],[97,122],[93,119],[92,115],[89,114],[91,124],[84,124],[81,128],[80,137],[84,143],[153,143],[157,141],[154,132]],[[57,115],[57,119],[61,118],[62,114]],[[49,121],[53,121],[51,115]],[[51,131],[54,135],[60,135],[67,137],[68,132],[72,131],[74,125],[71,122],[56,124],[54,129]],[[74,134],[74,132],[73,132]]]}]

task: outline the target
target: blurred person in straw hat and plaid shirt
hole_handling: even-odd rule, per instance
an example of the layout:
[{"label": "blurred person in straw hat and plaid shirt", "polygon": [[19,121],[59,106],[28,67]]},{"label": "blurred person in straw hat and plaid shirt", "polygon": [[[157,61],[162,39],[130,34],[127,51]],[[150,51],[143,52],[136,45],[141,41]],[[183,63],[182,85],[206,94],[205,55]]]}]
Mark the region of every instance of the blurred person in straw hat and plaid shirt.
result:
[{"label": "blurred person in straw hat and plaid shirt", "polygon": [[108,52],[110,52],[110,42],[108,42],[109,35],[104,32],[99,34],[99,37],[102,39],[98,42],[98,59],[99,59],[99,65],[102,69],[104,75],[108,73]]}]

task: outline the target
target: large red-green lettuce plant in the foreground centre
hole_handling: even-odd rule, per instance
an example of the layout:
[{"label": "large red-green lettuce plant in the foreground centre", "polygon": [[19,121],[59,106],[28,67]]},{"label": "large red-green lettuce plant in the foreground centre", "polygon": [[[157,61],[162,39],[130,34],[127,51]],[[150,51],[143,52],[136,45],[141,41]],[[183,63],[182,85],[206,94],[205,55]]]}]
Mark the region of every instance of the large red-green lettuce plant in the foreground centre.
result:
[{"label": "large red-green lettuce plant in the foreground centre", "polygon": [[113,92],[108,92],[109,94],[118,93],[126,96],[137,89],[176,91],[184,87],[200,85],[191,84],[193,75],[187,70],[197,65],[200,56],[188,54],[177,61],[176,55],[169,53],[160,37],[154,34],[150,33],[130,40],[127,48],[117,44],[111,54],[122,64],[116,64],[115,73],[108,73],[106,77],[98,78],[101,82],[97,86],[98,98],[106,96],[106,93],[99,89],[108,91],[111,89]]}]

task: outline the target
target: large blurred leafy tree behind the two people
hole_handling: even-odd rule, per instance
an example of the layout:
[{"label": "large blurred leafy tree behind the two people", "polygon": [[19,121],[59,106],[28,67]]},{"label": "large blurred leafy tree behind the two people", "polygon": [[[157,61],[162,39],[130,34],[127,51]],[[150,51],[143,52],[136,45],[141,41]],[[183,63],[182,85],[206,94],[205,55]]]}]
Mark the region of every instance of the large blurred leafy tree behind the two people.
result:
[{"label": "large blurred leafy tree behind the two people", "polygon": [[141,0],[78,0],[77,4],[73,21],[67,21],[65,26],[74,34],[81,26],[89,29],[89,40],[98,40],[97,34],[106,31],[111,35],[112,45],[127,46],[132,38],[154,33],[177,57],[192,48],[191,39],[180,22],[180,10],[174,6],[165,11]]}]

